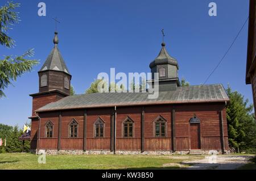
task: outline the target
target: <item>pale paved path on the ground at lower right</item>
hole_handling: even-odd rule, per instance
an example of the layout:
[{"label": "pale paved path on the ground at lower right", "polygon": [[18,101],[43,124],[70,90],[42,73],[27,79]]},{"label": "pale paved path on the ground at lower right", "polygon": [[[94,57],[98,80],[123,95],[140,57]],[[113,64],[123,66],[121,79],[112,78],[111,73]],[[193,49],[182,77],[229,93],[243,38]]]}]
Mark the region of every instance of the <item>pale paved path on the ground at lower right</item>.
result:
[{"label": "pale paved path on the ground at lower right", "polygon": [[234,170],[249,162],[253,155],[206,155],[204,159],[185,161],[191,163],[189,170]]}]

